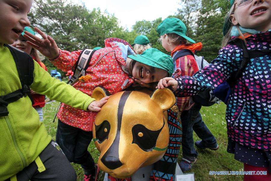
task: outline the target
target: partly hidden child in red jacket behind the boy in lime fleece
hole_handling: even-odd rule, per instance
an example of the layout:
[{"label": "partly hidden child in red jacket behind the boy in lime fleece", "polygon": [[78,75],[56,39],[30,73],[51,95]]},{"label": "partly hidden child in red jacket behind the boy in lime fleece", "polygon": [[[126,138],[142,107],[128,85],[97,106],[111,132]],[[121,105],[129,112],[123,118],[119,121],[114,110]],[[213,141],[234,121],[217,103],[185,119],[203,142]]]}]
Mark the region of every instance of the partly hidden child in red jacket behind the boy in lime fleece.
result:
[{"label": "partly hidden child in red jacket behind the boy in lime fleece", "polygon": [[[14,46],[17,49],[20,49],[28,53],[33,58],[33,60],[35,60],[44,70],[47,71],[46,66],[41,62],[39,58],[38,51],[35,48],[33,48],[31,45],[26,43],[27,40],[25,39],[25,37],[23,37],[25,31],[28,31],[31,34],[35,35],[35,32],[30,27],[24,27],[23,33],[20,35],[18,39],[15,39],[14,43],[12,43],[11,46]],[[32,106],[38,112],[39,120],[42,121],[43,120],[42,107],[45,106],[45,95],[37,94],[32,89],[30,89],[30,93],[31,94],[29,94],[29,96],[33,101]]]}]

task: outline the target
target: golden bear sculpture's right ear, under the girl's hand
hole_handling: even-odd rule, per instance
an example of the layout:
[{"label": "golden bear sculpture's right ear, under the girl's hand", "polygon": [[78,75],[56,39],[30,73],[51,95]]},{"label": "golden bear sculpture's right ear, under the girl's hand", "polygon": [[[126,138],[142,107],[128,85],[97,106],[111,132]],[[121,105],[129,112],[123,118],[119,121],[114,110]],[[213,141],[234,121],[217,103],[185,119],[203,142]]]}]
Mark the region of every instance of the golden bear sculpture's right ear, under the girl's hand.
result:
[{"label": "golden bear sculpture's right ear, under the girl's hand", "polygon": [[154,90],[150,97],[158,103],[163,111],[168,110],[176,103],[176,98],[173,92],[166,87],[164,89]]}]

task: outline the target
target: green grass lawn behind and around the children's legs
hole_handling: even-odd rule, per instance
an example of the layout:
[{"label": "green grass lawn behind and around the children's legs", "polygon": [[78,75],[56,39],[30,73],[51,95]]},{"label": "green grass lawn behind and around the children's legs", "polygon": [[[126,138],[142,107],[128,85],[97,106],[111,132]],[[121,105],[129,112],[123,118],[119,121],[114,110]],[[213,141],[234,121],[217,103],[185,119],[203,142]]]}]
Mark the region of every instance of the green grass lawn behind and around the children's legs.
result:
[{"label": "green grass lawn behind and around the children's legs", "polygon": [[[57,118],[53,122],[55,111],[58,107],[58,102],[53,102],[46,104],[43,109],[44,124],[48,133],[55,140],[55,133],[57,130]],[[210,107],[202,107],[201,115],[202,119],[206,123],[207,127],[216,137],[219,149],[217,151],[213,150],[203,150],[196,149],[199,153],[198,160],[194,164],[193,168],[189,172],[195,173],[195,180],[197,181],[209,181],[209,180],[243,180],[243,176],[239,175],[209,175],[209,171],[239,171],[243,169],[243,164],[234,160],[234,155],[227,153],[227,128],[225,120],[225,110],[226,105],[215,104]],[[194,132],[194,141],[200,140]],[[88,148],[94,161],[97,163],[99,157],[99,151],[96,149],[93,141]],[[182,159],[182,149],[180,150],[179,161]],[[77,180],[83,180],[83,169],[78,164],[73,164],[72,166],[76,170],[78,175]],[[100,173],[99,180],[103,180],[104,173]]]}]

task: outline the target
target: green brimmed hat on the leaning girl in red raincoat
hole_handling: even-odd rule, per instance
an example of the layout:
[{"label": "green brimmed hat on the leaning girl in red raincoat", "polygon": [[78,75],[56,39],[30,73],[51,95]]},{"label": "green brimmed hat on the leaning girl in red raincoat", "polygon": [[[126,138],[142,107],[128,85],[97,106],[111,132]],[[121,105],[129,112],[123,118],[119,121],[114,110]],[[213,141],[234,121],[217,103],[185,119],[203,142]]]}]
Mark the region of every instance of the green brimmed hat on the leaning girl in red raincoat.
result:
[{"label": "green brimmed hat on the leaning girl in red raincoat", "polygon": [[157,50],[156,48],[149,48],[140,55],[128,55],[128,57],[146,65],[164,69],[169,73],[169,76],[173,74],[174,67],[171,56]]}]

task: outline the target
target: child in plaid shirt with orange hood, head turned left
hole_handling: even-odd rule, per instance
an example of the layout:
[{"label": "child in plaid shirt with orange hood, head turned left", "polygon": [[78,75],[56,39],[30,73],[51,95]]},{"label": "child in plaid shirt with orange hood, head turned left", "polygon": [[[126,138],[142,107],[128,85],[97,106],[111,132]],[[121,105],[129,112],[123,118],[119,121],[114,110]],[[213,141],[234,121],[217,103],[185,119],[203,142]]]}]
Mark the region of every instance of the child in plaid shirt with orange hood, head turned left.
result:
[{"label": "child in plaid shirt with orange hood, head turned left", "polygon": [[[201,42],[195,43],[194,40],[185,35],[185,24],[175,17],[166,18],[158,25],[157,32],[159,33],[159,40],[162,42],[162,46],[167,52],[171,52],[173,59],[176,59],[173,62],[174,73],[172,77],[178,78],[179,76],[192,76],[195,74],[198,71],[198,65],[193,55],[175,57],[178,56],[177,53],[182,49],[188,49],[195,53],[195,51],[201,50],[202,48]],[[187,41],[192,42],[192,44],[187,43]],[[218,144],[216,143],[216,138],[201,119],[201,114],[199,113],[201,105],[196,104],[192,100],[192,97],[176,98],[177,106],[181,114],[183,130],[183,158],[179,165],[182,171],[188,171],[196,162],[198,155],[198,152],[194,148],[193,130],[202,139],[201,141],[196,141],[196,146],[217,150]]]}]

